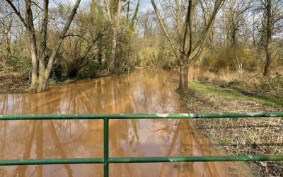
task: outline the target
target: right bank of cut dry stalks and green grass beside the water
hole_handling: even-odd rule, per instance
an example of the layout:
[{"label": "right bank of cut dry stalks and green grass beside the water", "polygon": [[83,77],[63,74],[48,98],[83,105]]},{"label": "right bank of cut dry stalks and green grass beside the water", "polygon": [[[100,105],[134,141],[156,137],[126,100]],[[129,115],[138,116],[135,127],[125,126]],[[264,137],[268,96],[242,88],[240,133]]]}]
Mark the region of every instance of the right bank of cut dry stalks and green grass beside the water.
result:
[{"label": "right bank of cut dry stalks and green grass beside the water", "polygon": [[[191,83],[183,93],[183,102],[190,113],[231,113],[283,111],[283,99],[272,93],[253,93],[250,86],[233,88],[215,84],[208,79]],[[246,87],[247,88],[247,87]],[[283,154],[282,118],[237,118],[194,120],[197,127],[231,155]],[[280,176],[282,162],[250,163],[265,176]]]}]

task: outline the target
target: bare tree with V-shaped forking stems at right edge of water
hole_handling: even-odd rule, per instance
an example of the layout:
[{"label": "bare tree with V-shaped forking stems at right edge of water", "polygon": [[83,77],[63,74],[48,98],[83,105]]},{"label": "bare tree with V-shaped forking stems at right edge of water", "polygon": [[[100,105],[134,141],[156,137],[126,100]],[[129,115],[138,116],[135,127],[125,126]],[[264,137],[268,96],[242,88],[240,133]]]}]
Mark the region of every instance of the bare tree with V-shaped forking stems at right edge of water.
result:
[{"label": "bare tree with V-shaped forking stems at right edge of water", "polygon": [[[158,21],[161,24],[163,32],[166,35],[166,38],[168,42],[170,43],[171,48],[175,54],[175,57],[178,59],[178,62],[180,65],[179,89],[187,89],[188,70],[190,69],[190,67],[192,67],[192,64],[194,64],[197,61],[197,59],[200,57],[200,55],[202,54],[202,50],[207,43],[209,34],[211,33],[216,13],[219,11],[219,8],[221,8],[221,6],[223,5],[223,2],[224,0],[214,1],[212,13],[210,16],[207,17],[208,18],[207,23],[204,23],[204,25],[202,25],[202,29],[203,29],[202,32],[199,32],[199,31],[196,32],[193,29],[193,21],[195,18],[195,7],[197,6],[197,1],[189,0],[189,3],[187,5],[185,22],[183,23],[185,30],[178,29],[178,32],[181,36],[181,40],[178,41],[178,45],[180,45],[180,48],[178,48],[180,52],[178,52],[177,48],[175,47],[175,42],[169,35],[168,29],[166,28],[166,24],[164,23],[158,11],[158,8],[156,7],[154,0],[151,0],[151,4],[154,6],[154,10],[156,12]],[[179,0],[175,0],[175,6],[176,6],[177,11],[178,9],[180,11]],[[182,24],[181,18],[177,18],[177,24],[178,24],[178,28],[181,28],[180,27],[180,24]],[[195,35],[193,34],[194,32],[200,33],[197,40],[193,39],[193,35]]]}]

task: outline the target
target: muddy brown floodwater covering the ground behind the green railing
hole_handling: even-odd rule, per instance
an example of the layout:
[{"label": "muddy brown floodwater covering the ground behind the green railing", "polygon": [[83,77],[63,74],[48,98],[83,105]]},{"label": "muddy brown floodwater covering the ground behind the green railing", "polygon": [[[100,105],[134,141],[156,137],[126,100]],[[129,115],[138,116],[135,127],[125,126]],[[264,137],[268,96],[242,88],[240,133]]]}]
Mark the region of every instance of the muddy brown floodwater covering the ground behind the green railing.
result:
[{"label": "muddy brown floodwater covering the ground behind the green railing", "polygon": [[[178,73],[141,69],[43,93],[0,95],[0,114],[185,113]],[[110,153],[224,155],[191,120],[110,120]],[[0,159],[103,157],[102,120],[0,121]],[[103,176],[102,164],[0,166],[1,176]],[[252,176],[237,162],[110,164],[110,176]]]}]

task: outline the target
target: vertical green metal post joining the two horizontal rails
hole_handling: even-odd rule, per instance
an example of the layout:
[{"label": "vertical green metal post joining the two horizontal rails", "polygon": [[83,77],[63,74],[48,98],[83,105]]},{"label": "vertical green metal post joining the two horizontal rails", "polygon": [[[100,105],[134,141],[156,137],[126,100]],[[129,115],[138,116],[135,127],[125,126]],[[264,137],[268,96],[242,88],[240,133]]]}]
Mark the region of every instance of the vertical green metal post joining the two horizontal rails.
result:
[{"label": "vertical green metal post joining the two horizontal rails", "polygon": [[108,157],[109,157],[109,119],[104,118],[103,120],[104,124],[104,131],[103,131],[103,142],[104,142],[104,156],[103,156],[103,163],[104,163],[104,177],[109,176],[109,163],[108,163]]}]

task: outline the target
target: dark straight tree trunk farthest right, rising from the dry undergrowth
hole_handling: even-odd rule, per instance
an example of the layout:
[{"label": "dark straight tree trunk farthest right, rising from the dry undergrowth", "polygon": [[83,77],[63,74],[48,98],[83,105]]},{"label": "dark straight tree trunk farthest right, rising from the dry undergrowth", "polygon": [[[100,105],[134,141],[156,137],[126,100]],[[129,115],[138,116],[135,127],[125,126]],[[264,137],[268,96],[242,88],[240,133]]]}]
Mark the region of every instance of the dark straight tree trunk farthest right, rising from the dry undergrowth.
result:
[{"label": "dark straight tree trunk farthest right, rising from the dry undergrowth", "polygon": [[271,40],[272,40],[272,14],[271,14],[271,0],[267,0],[267,36],[266,36],[266,45],[265,45],[265,71],[263,76],[270,76],[270,64],[271,64]]}]

